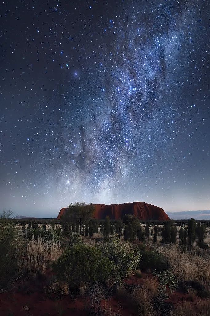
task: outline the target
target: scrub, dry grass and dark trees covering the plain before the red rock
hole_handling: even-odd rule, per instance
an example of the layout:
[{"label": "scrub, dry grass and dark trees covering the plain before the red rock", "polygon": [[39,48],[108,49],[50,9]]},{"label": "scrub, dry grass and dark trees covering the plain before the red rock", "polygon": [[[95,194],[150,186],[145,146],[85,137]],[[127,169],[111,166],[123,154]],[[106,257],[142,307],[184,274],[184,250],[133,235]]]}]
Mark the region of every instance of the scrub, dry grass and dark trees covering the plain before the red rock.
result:
[{"label": "scrub, dry grass and dark trees covering the plain before the red rock", "polygon": [[[191,219],[179,231],[173,222],[151,228],[131,215],[115,225],[106,217],[99,225],[91,220],[92,209],[83,217],[76,210],[71,207],[57,227],[25,223],[18,230],[7,220],[10,214],[0,218],[1,295],[33,295],[36,285],[54,303],[50,315],[71,315],[65,307],[75,301],[82,302],[82,315],[209,314],[206,227]],[[30,308],[23,306],[23,315]]]}]

